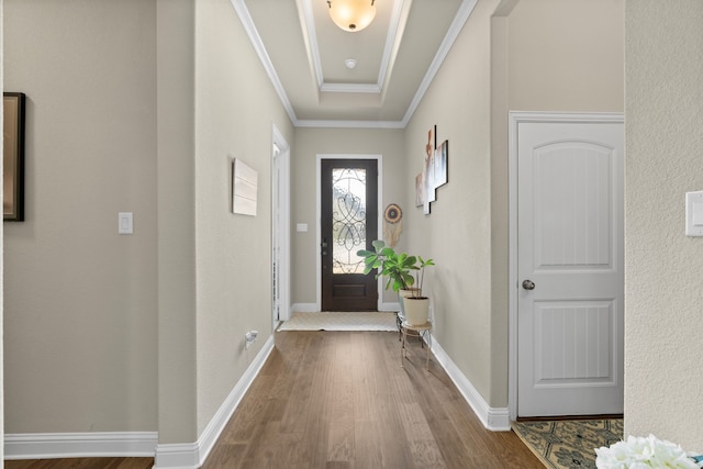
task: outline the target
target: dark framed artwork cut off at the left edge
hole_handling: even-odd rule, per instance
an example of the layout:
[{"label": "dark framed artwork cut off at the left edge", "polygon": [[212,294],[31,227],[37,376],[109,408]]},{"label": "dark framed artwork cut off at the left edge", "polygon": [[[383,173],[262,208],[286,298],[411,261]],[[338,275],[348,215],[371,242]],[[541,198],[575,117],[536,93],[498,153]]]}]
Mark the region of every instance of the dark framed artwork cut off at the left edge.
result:
[{"label": "dark framed artwork cut off at the left edge", "polygon": [[3,92],[2,129],[3,192],[5,222],[24,221],[24,93]]}]

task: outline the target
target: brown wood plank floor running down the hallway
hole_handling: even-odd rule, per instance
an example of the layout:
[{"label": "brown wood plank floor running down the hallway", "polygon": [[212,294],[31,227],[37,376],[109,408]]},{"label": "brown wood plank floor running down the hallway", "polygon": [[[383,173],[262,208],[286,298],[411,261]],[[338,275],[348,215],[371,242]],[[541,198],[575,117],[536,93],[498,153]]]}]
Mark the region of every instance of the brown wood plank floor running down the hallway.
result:
[{"label": "brown wood plank floor running down the hallway", "polygon": [[[512,432],[483,428],[416,339],[279,332],[203,469],[542,469]],[[152,459],[7,461],[7,469],[148,469]]]}]

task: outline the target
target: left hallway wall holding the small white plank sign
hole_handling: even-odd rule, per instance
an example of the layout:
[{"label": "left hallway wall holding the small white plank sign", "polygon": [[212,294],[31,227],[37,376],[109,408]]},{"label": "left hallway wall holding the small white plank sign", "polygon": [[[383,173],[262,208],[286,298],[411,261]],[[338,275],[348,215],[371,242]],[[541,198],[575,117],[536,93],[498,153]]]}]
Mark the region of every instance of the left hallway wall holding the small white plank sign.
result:
[{"label": "left hallway wall holding the small white plank sign", "polygon": [[[198,434],[272,334],[272,125],[293,130],[230,0],[196,2]],[[243,72],[246,70],[246,72]],[[258,174],[256,216],[232,213],[232,160]],[[247,331],[258,331],[244,349]]]}]

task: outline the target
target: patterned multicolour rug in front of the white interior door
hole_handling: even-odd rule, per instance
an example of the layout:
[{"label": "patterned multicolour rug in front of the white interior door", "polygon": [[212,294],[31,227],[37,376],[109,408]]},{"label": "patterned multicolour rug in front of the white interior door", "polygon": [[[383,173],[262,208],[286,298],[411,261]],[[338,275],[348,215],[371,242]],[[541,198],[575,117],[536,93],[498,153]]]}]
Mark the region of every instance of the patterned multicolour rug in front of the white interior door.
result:
[{"label": "patterned multicolour rug in front of the white interior door", "polygon": [[623,439],[623,421],[515,422],[513,431],[548,468],[595,468],[595,448]]}]

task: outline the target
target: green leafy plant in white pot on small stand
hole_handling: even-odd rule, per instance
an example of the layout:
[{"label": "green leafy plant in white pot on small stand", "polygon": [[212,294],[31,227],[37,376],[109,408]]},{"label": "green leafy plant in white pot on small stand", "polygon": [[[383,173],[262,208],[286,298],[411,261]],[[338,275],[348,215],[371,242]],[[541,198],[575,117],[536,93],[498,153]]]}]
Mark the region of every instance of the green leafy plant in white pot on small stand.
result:
[{"label": "green leafy plant in white pot on small stand", "polygon": [[[410,324],[424,324],[429,313],[429,299],[423,297],[422,284],[425,277],[425,267],[434,266],[432,259],[423,259],[421,256],[410,256],[406,253],[395,253],[386,246],[381,239],[373,243],[373,250],[360,249],[357,256],[364,258],[364,273],[378,269],[376,278],[388,277],[386,290],[399,293],[401,312]],[[413,275],[414,273],[414,275]],[[412,303],[405,303],[410,299]],[[405,306],[410,308],[405,308]]]}]

